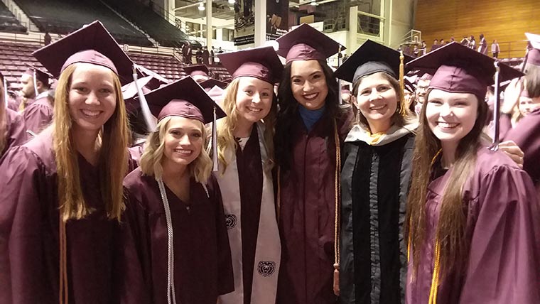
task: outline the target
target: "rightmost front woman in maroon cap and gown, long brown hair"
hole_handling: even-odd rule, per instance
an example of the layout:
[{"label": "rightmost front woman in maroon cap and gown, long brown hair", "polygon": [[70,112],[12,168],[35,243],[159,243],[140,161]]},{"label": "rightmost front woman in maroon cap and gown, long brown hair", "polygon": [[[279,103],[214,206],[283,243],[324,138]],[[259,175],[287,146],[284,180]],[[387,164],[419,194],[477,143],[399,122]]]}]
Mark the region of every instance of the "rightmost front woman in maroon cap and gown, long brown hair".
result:
[{"label": "rightmost front woman in maroon cap and gown, long brown hair", "polygon": [[406,303],[540,303],[534,185],[482,141],[493,60],[457,46],[409,63],[438,70],[414,149]]}]

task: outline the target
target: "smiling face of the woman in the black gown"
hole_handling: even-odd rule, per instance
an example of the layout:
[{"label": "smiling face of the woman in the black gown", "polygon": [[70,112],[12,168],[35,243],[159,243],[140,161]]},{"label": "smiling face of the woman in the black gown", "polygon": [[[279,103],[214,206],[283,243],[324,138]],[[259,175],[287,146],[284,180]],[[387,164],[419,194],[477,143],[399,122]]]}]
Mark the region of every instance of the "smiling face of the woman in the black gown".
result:
[{"label": "smiling face of the woman in the black gown", "polygon": [[[396,89],[382,72],[360,80],[356,103],[372,130],[387,129],[392,124],[397,102]],[[375,125],[377,125],[376,128],[374,128]]]}]

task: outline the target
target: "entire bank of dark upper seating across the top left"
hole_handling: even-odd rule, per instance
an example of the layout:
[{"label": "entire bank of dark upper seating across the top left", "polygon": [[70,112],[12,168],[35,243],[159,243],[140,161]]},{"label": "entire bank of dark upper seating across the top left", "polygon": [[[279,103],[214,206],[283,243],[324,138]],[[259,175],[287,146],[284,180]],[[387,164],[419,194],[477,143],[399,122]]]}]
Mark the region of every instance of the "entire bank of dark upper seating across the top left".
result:
[{"label": "entire bank of dark upper seating across the top left", "polygon": [[[189,41],[188,36],[180,29],[158,15],[151,7],[136,0],[48,0],[46,3],[36,0],[15,0],[14,2],[43,33],[58,33],[63,36],[99,19],[119,43],[155,46],[146,35],[156,40],[159,45],[171,48],[179,48]],[[1,2],[0,31],[11,33],[27,31],[27,28]],[[189,42],[200,46],[195,41]]]}]

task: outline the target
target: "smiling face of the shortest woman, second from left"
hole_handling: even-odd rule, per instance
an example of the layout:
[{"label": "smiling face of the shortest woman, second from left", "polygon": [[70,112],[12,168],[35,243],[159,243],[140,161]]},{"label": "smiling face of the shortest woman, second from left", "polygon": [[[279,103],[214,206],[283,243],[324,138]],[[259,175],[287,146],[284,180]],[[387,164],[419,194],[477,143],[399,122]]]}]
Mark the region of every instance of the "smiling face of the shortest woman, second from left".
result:
[{"label": "smiling face of the shortest woman, second from left", "polygon": [[204,143],[202,127],[195,119],[171,117],[163,135],[163,167],[182,168],[198,158]]}]

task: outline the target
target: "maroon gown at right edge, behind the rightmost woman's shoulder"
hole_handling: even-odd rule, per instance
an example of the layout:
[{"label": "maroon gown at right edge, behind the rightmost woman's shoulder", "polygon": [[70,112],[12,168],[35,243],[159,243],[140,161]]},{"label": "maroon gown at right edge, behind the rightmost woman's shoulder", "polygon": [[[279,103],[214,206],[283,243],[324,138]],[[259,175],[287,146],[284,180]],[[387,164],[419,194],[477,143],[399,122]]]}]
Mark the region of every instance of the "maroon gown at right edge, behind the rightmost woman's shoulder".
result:
[{"label": "maroon gown at right edge, behind the rightmost woman's shoulder", "polygon": [[505,141],[514,141],[525,154],[523,170],[527,171],[536,185],[540,183],[540,108],[523,117],[504,136]]}]

